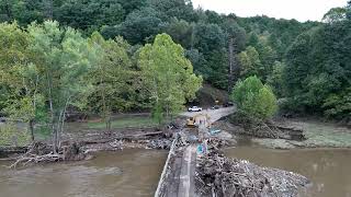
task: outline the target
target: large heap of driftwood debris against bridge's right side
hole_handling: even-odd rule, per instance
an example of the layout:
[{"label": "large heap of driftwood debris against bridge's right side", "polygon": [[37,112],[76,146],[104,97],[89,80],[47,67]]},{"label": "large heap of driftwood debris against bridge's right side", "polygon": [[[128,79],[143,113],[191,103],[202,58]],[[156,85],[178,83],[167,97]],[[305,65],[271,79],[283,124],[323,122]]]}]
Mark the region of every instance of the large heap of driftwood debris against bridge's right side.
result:
[{"label": "large heap of driftwood debris against bridge's right side", "polygon": [[308,183],[302,175],[228,159],[219,151],[197,159],[195,185],[197,194],[204,197],[291,197]]}]

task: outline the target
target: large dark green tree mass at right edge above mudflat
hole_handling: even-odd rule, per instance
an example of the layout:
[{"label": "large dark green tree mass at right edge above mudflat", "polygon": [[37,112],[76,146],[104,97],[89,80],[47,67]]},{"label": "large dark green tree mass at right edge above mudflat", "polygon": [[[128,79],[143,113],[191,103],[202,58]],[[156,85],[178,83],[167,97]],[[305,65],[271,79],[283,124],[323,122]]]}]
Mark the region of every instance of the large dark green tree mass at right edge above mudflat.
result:
[{"label": "large dark green tree mass at right edge above mudflat", "polygon": [[325,24],[302,34],[291,46],[283,80],[295,112],[349,116],[350,32],[350,20]]}]

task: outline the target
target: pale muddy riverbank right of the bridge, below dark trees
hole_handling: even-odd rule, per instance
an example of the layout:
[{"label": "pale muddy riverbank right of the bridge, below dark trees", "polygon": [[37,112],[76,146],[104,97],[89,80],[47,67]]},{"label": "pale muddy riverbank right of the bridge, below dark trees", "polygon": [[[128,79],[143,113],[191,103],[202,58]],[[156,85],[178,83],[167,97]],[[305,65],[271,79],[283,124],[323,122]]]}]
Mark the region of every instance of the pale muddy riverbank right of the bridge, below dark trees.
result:
[{"label": "pale muddy riverbank right of the bridge, below dark trees", "polygon": [[239,140],[271,149],[351,148],[351,129],[338,124],[310,119],[278,119],[275,121],[285,127],[302,130],[304,139],[292,140],[242,136],[242,134],[250,131],[245,131],[245,128],[240,125],[234,125],[228,119],[216,123],[214,127],[236,136]]}]

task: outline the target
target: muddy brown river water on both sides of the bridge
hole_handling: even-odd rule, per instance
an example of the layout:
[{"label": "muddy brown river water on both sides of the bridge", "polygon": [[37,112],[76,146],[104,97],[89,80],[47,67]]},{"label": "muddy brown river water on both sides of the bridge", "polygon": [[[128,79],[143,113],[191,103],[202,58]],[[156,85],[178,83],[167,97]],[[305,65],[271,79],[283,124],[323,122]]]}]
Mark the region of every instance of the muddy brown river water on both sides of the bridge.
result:
[{"label": "muddy brown river water on both sides of the bridge", "polygon": [[[351,150],[225,150],[259,165],[307,176],[314,184],[302,196],[351,197]],[[9,171],[0,162],[0,197],[150,197],[167,151],[124,150],[94,160]]]}]

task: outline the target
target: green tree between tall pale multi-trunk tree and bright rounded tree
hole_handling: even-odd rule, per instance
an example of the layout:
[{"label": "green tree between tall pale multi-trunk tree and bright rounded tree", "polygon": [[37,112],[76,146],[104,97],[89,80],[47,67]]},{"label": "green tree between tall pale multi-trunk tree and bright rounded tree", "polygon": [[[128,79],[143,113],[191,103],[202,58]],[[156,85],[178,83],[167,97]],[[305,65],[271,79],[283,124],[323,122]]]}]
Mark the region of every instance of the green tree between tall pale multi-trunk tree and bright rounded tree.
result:
[{"label": "green tree between tall pale multi-trunk tree and bright rounded tree", "polygon": [[132,70],[127,54],[131,46],[122,37],[105,40],[97,32],[92,34],[90,45],[101,55],[97,66],[90,70],[94,90],[89,102],[102,114],[106,130],[111,131],[112,112],[124,112],[135,104],[132,95],[136,72]]}]

